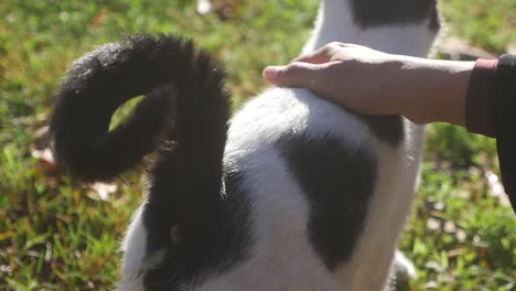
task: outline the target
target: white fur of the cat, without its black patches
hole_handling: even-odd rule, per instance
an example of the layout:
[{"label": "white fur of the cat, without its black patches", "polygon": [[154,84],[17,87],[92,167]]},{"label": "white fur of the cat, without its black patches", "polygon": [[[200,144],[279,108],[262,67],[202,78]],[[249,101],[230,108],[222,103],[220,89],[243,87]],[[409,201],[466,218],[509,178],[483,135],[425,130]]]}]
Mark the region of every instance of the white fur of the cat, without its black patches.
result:
[{"label": "white fur of the cat, without its black patches", "polygon": [[[332,41],[416,56],[428,53],[433,40],[428,23],[362,30],[353,24],[347,6],[344,0],[324,1],[304,53]],[[330,134],[378,157],[365,228],[352,258],[335,272],[327,271],[307,239],[309,203],[275,147],[286,131],[308,132],[314,139]],[[412,201],[423,131],[409,125],[404,142],[391,148],[355,116],[305,89],[266,90],[233,118],[224,159],[226,166],[248,177],[245,187],[252,203],[255,239],[250,258],[201,285],[182,290],[383,290]],[[141,288],[135,276],[144,268],[144,234],[138,213],[126,237],[120,290]]]}]

